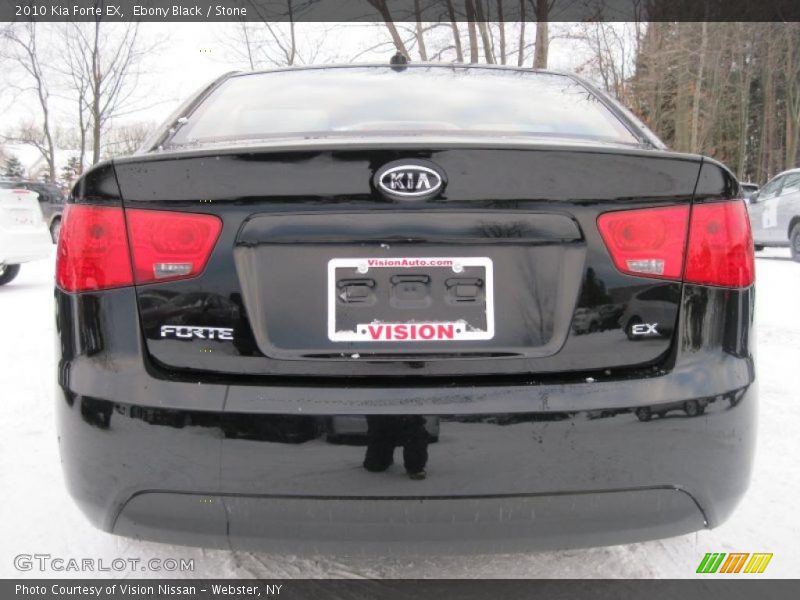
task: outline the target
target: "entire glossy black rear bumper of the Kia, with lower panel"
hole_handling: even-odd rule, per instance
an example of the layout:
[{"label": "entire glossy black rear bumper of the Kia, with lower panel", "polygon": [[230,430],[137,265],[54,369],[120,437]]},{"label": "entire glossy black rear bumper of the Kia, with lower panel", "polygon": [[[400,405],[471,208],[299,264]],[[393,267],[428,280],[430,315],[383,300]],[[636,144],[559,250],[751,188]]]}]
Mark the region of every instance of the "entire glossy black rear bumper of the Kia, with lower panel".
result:
[{"label": "entire glossy black rear bumper of the Kia, with lower panel", "polygon": [[[738,333],[694,323],[678,332],[671,368],[649,377],[403,387],[159,378],[143,364],[135,321],[128,335],[102,329],[135,314],[128,291],[57,293],[62,464],[70,493],[106,531],[349,554],[569,548],[715,527],[747,488],[757,391],[741,307],[752,290],[719,292],[746,315]],[[705,412],[636,416],[687,400]],[[342,415],[361,422],[345,443]],[[438,438],[421,435],[430,431],[420,416]],[[365,469],[386,436],[394,464]],[[410,479],[404,458],[423,454],[427,478]]]}]

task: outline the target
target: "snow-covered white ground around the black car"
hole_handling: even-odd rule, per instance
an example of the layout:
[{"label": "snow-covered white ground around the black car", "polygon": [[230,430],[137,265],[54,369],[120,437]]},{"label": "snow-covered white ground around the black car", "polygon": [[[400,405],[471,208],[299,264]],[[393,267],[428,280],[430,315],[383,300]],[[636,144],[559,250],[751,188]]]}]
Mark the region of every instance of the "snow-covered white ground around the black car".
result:
[{"label": "snow-covered white ground around the black car", "polygon": [[52,390],[53,261],[24,265],[0,288],[0,577],[92,576],[14,568],[18,554],[194,559],[193,573],[122,577],[692,577],[706,552],[772,552],[763,576],[800,564],[800,264],[787,250],[757,260],[759,440],[754,476],[733,517],[713,531],[567,552],[472,557],[298,557],[137,542],[92,528],[64,489]]}]

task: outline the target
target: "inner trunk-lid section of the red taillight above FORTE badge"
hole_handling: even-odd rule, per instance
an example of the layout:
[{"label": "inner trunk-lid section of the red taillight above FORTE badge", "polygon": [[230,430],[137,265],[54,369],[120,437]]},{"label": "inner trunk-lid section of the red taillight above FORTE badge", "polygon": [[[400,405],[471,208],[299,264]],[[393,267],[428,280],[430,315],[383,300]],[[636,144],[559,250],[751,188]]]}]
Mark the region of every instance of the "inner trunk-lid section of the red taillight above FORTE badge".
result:
[{"label": "inner trunk-lid section of the red taillight above FORTE badge", "polygon": [[126,217],[136,283],[199,275],[222,229],[214,215],[129,209]]}]

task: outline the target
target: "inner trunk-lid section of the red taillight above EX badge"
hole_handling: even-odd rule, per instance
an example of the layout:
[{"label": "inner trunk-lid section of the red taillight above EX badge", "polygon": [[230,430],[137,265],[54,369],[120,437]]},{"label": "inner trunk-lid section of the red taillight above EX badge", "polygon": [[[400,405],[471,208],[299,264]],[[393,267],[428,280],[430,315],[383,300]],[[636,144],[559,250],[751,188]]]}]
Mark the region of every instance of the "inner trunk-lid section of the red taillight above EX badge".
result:
[{"label": "inner trunk-lid section of the red taillight above EX badge", "polygon": [[688,221],[688,206],[667,206],[605,213],[597,227],[623,273],[680,279]]}]

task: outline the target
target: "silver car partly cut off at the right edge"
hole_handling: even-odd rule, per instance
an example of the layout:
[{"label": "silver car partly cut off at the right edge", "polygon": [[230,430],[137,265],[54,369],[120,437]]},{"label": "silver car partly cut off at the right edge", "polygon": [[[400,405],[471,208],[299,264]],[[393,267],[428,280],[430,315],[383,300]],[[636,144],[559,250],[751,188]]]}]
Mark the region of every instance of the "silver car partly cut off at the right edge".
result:
[{"label": "silver car partly cut off at the right edge", "polygon": [[747,205],[756,250],[789,247],[800,262],[800,169],[776,175]]}]

